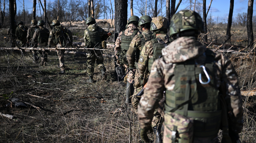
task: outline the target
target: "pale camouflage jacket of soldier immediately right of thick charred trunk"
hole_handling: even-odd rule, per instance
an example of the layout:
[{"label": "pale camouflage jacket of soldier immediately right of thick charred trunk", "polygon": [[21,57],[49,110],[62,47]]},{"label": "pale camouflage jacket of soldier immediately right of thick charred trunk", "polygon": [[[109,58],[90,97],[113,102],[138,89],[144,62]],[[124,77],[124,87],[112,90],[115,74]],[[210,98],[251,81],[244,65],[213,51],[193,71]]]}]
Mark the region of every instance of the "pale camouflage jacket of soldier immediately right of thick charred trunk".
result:
[{"label": "pale camouflage jacket of soldier immediately right of thick charred trunk", "polygon": [[[134,30],[138,30],[138,27],[137,27],[136,25],[134,25],[134,24],[131,23],[131,24],[129,24],[129,25],[127,26],[127,29],[124,30],[124,35],[125,35],[125,36],[130,36],[130,35],[132,35],[132,33],[133,33]],[[137,35],[139,35],[139,34],[141,34],[140,31],[138,31],[138,33],[137,33],[135,36],[137,36]],[[119,50],[121,50],[121,42],[122,42],[121,35],[122,35],[122,31],[118,34],[118,37],[117,37],[117,39],[116,39],[116,41],[115,41],[115,48],[114,48],[114,50],[115,50],[115,56],[117,55],[117,52],[118,52]]]}]

